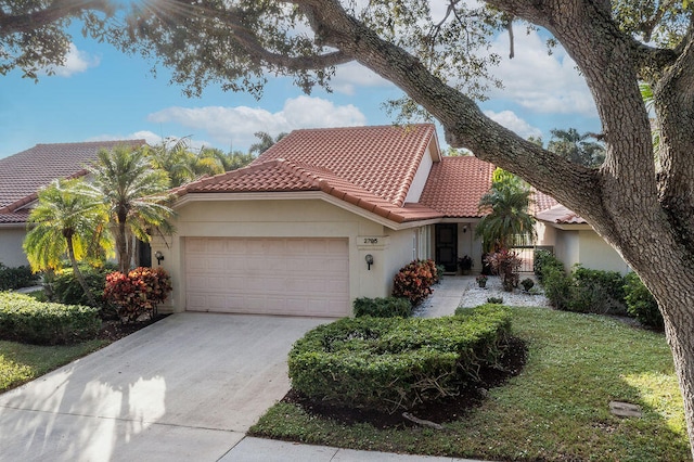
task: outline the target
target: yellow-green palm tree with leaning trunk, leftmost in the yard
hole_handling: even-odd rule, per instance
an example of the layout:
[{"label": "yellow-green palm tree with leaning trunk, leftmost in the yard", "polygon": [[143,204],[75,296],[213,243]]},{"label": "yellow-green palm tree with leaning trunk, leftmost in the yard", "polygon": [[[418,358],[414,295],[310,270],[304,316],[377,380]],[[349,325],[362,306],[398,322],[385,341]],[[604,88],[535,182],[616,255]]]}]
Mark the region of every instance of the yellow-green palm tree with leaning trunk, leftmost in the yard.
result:
[{"label": "yellow-green palm tree with leaning trunk, leftmost in the yard", "polygon": [[56,269],[67,256],[87,299],[97,306],[77,261],[113,248],[104,232],[106,220],[103,203],[86,194],[81,180],[55,180],[38,193],[38,205],[29,214],[28,222],[35,226],[23,247],[31,269]]}]

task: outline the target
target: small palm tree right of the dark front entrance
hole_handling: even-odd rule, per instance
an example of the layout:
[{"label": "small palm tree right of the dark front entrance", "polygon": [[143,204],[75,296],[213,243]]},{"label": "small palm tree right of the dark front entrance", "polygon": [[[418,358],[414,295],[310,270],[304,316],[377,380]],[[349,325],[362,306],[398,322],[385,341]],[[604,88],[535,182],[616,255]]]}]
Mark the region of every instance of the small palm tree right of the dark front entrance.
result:
[{"label": "small palm tree right of the dark front entrance", "polygon": [[517,244],[516,240],[536,235],[535,218],[528,213],[531,190],[509,172],[494,171],[494,177],[498,180],[492,181],[489,192],[479,200],[479,208],[489,214],[475,229],[485,252],[509,248]]}]

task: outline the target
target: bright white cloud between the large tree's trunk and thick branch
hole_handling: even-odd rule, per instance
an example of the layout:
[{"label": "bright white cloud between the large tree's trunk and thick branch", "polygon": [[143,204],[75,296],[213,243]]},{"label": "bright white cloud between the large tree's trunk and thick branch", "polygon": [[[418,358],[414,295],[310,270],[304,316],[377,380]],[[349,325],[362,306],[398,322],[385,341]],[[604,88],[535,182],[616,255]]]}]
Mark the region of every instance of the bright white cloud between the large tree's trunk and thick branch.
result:
[{"label": "bright white cloud between the large tree's trunk and thick branch", "polygon": [[511,100],[536,113],[596,115],[588,85],[563,48],[550,55],[538,33],[517,30],[512,60],[509,50],[509,34],[499,35],[491,51],[505,56],[493,72],[504,89],[493,90],[492,99]]}]

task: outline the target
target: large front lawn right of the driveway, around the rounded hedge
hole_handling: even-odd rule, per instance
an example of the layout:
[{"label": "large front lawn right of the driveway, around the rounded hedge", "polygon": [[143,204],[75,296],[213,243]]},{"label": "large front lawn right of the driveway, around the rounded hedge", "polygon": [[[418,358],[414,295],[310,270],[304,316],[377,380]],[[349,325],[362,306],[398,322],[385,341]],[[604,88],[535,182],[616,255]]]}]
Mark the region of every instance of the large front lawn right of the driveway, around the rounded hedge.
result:
[{"label": "large front lawn right of the driveway, around the rounded hedge", "polygon": [[[661,334],[609,318],[514,308],[529,346],[524,371],[445,431],[378,429],[277,403],[250,428],[270,438],[487,460],[687,461],[682,398]],[[642,418],[609,413],[638,403]]]}]

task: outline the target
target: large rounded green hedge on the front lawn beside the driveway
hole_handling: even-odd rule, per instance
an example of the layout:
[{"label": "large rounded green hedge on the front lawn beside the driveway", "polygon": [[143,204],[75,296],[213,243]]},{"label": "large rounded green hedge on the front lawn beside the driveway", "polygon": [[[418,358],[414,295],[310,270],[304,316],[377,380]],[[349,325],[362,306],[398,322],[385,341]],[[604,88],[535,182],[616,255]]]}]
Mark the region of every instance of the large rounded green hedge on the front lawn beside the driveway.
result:
[{"label": "large rounded green hedge on the front lawn beside the driveway", "polygon": [[290,352],[292,386],[335,405],[382,410],[454,395],[493,364],[511,330],[499,305],[435,318],[346,318],[321,325]]}]

